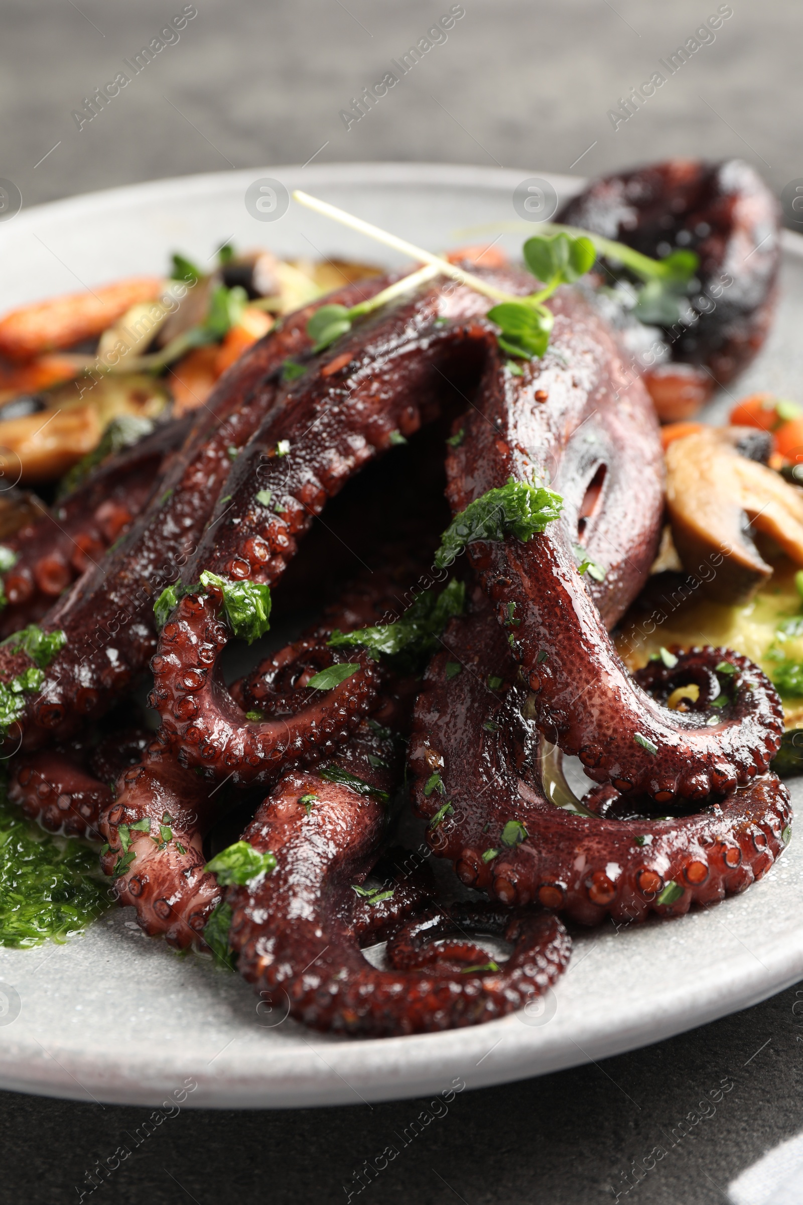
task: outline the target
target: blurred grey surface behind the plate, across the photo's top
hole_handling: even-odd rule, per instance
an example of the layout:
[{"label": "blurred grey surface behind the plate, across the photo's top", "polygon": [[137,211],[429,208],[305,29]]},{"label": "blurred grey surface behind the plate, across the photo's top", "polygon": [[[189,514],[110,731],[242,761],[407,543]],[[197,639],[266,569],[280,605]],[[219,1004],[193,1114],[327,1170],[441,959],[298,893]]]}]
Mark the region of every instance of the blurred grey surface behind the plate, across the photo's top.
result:
[{"label": "blurred grey surface behind the plate, across the photo's top", "polygon": [[[448,40],[348,130],[341,110],[449,0],[196,0],[177,42],[124,69],[183,7],[4,0],[0,175],[24,204],[315,153],[585,175],[738,154],[778,192],[803,176],[793,0],[465,0]],[[720,8],[733,14],[714,41],[674,75],[659,66]],[[120,70],[130,83],[78,130],[71,113]],[[655,71],[667,82],[614,129],[608,112]]]}]

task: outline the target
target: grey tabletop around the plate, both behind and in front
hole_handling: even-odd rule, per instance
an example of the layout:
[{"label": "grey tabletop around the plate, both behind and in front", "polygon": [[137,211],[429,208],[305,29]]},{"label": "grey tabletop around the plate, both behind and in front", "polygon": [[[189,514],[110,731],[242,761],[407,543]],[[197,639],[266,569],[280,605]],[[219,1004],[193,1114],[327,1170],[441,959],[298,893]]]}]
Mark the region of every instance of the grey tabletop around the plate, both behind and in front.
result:
[{"label": "grey tabletop around the plate, both behind and in front", "polygon": [[[448,39],[347,129],[341,111],[450,5],[211,2],[106,108],[73,112],[158,37],[176,0],[2,0],[0,175],[23,204],[270,163],[431,160],[592,175],[672,154],[751,161],[780,193],[803,176],[796,114],[803,8],[792,0],[465,0]],[[610,110],[731,10],[628,120]],[[526,175],[522,171],[522,175]],[[728,1181],[803,1125],[796,989],[631,1054],[466,1092],[358,1193],[354,1174],[426,1101],[300,1112],[183,1111],[98,1197],[584,1205],[725,1200]],[[799,1011],[799,1010],[797,1010]],[[125,1041],[110,1018],[98,1041]],[[154,1035],[158,1040],[158,1035]],[[679,1123],[724,1078],[705,1121]],[[730,1082],[728,1080],[728,1082]],[[78,1089],[77,1089],[78,1091]],[[76,1200],[148,1111],[0,1094],[0,1201]],[[129,1144],[131,1145],[131,1144]],[[666,1150],[636,1186],[632,1160]],[[350,1185],[350,1188],[344,1188]],[[88,1198],[87,1198],[88,1199]]]}]

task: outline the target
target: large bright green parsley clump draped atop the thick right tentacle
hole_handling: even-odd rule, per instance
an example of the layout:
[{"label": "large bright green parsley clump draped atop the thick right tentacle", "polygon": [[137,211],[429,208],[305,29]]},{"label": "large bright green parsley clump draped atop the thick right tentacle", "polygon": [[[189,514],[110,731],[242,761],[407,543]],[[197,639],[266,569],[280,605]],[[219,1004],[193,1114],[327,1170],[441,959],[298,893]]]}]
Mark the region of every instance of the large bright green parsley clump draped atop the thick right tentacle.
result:
[{"label": "large bright green parsley clump draped atop the thick right tentacle", "polygon": [[441,537],[435,564],[447,568],[477,540],[498,542],[514,535],[526,543],[557,518],[562,506],[563,499],[553,489],[510,477],[507,486],[489,489],[455,516]]}]

